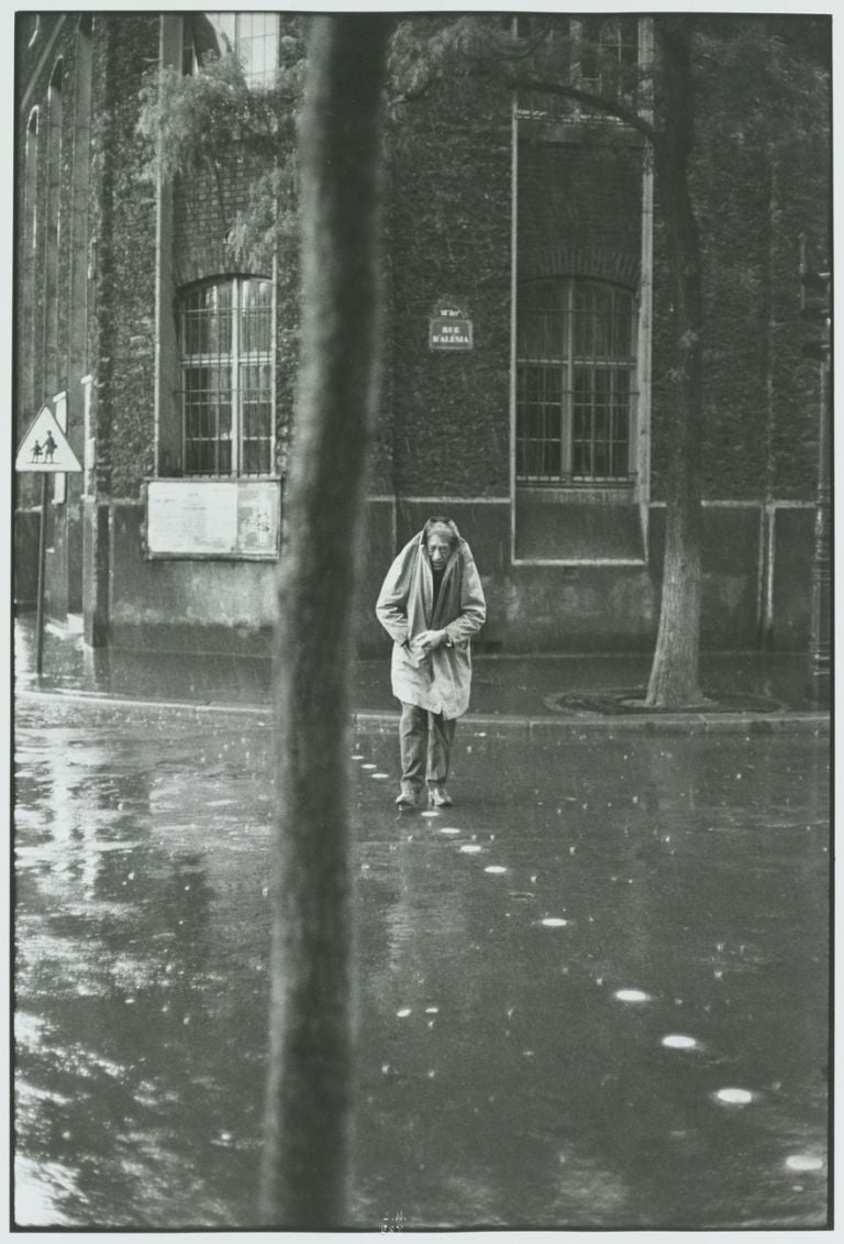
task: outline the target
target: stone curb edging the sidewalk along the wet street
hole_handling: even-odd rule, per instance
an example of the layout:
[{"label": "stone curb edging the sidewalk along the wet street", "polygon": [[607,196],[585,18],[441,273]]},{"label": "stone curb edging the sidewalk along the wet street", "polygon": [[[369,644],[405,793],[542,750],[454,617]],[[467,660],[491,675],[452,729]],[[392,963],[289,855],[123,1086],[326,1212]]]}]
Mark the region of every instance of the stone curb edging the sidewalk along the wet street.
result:
[{"label": "stone curb edging the sidewalk along the wet street", "polygon": [[[50,699],[60,703],[70,700],[86,704],[112,705],[113,708],[155,708],[175,709],[188,713],[231,713],[250,717],[268,717],[272,708],[268,704],[225,704],[193,700],[157,700],[131,695],[109,695],[97,692],[83,692],[76,688],[39,689],[26,687],[15,692],[17,698]],[[352,712],[352,720],[358,730],[364,733],[385,733],[395,730],[399,714],[379,709],[358,709]],[[461,725],[484,731],[492,738],[513,738],[520,734],[526,739],[552,738],[558,734],[778,734],[797,731],[800,734],[829,734],[830,717],[828,713],[618,713],[618,714],[572,714],[522,717],[518,714],[477,714],[467,713],[460,719]]]}]

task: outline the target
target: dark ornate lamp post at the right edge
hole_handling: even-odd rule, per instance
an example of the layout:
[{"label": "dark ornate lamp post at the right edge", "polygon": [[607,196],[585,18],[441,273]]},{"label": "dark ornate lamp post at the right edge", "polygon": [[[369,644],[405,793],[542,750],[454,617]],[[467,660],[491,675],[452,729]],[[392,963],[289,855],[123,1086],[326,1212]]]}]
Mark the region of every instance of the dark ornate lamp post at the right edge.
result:
[{"label": "dark ornate lamp post at the right edge", "polygon": [[832,501],[829,439],[833,391],[832,272],[809,267],[805,258],[804,236],[800,236],[800,310],[803,316],[813,321],[818,327],[814,340],[803,346],[803,353],[808,358],[817,360],[819,364],[818,483],[815,489],[814,550],[812,556],[809,667],[813,698],[828,700],[832,621],[829,541],[829,511]]}]

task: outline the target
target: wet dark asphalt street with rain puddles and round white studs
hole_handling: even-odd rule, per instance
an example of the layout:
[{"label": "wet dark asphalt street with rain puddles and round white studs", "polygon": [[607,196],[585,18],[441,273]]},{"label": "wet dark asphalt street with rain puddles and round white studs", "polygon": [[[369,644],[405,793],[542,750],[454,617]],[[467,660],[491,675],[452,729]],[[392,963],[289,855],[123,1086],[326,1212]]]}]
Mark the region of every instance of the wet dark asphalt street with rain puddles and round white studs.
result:
[{"label": "wet dark asphalt street with rain puddles and round white studs", "polygon": [[[256,1220],[262,713],[16,709],[15,1214]],[[368,1230],[828,1219],[829,740],[349,740]]]}]

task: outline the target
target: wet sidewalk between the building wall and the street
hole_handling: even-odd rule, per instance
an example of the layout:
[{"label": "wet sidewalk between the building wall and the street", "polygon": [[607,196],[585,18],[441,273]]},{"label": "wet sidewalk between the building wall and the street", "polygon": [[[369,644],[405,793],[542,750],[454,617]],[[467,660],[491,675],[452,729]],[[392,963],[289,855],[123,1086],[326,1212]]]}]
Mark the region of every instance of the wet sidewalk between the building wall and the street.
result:
[{"label": "wet sidewalk between the building wall and the street", "polygon": [[[829,729],[829,710],[812,698],[805,656],[710,653],[701,684],[710,704],[684,713],[645,712],[640,700],[650,653],[475,656],[467,719],[493,729],[640,729],[658,733]],[[87,648],[80,636],[45,634],[42,674],[35,673],[35,622],[15,622],[17,694],[47,693],[268,712],[271,663],[264,657],[121,652]],[[355,662],[353,710],[360,726],[392,724],[398,714],[389,651]]]}]

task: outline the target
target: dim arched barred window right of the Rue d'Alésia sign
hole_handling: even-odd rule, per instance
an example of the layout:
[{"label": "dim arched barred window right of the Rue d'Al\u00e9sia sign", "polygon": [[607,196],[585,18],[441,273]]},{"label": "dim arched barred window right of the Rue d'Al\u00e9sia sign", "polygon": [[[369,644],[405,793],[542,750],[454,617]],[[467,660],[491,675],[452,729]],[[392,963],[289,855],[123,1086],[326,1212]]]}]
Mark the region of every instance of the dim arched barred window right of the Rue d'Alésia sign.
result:
[{"label": "dim arched barred window right of the Rue d'Al\u00e9sia sign", "polygon": [[599,281],[542,279],[518,291],[516,478],[631,479],[635,302]]}]

